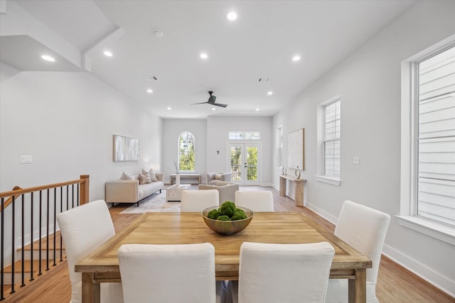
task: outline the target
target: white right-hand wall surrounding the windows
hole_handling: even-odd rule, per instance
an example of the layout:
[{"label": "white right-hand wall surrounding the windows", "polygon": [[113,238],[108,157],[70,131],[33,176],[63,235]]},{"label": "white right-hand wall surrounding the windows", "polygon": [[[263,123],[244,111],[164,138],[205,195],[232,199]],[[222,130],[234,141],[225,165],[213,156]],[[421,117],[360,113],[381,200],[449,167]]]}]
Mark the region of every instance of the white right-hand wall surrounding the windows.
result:
[{"label": "white right-hand wall surrounding the windows", "polygon": [[[284,150],[287,133],[305,128],[302,177],[308,180],[311,209],[335,222],[343,201],[351,199],[390,214],[384,253],[452,295],[454,246],[400,226],[395,215],[400,213],[400,62],[454,34],[454,16],[454,1],[417,2],[273,120],[274,131],[283,125]],[[316,109],[336,95],[341,95],[342,119],[338,187],[315,180]],[[360,157],[360,165],[353,165],[353,157]]]}]

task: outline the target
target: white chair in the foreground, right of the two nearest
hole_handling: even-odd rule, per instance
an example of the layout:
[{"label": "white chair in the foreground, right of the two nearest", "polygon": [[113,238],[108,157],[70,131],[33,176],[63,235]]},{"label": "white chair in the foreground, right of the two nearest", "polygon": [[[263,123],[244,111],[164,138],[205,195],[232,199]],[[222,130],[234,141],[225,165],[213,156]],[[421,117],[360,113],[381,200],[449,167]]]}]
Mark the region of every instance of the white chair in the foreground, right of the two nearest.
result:
[{"label": "white chair in the foreground, right of the two nearest", "polygon": [[323,303],[334,254],[327,242],[242,243],[239,281],[229,282],[225,302]]}]

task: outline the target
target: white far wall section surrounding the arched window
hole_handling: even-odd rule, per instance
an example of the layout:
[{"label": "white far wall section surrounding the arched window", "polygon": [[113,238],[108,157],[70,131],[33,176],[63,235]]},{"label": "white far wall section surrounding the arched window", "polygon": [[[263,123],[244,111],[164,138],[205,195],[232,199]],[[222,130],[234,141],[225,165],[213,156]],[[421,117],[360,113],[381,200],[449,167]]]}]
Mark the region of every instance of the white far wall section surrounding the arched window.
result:
[{"label": "white far wall section surrounding the arched window", "polygon": [[195,138],[197,173],[205,176],[205,151],[207,150],[207,121],[205,119],[163,119],[163,140],[161,152],[161,172],[164,172],[164,182],[170,182],[169,175],[175,173],[172,160],[178,159],[178,136],[183,131],[193,133]]}]

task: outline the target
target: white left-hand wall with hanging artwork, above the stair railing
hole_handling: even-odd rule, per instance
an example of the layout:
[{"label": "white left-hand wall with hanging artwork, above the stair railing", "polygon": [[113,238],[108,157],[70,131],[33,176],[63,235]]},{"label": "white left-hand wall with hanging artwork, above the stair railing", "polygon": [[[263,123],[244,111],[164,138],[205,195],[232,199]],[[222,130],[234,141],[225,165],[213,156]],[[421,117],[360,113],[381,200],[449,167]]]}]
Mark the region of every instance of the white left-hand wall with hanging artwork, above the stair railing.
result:
[{"label": "white left-hand wall with hanging artwork, above the stair railing", "polygon": [[[0,62],[0,79],[0,192],[90,175],[90,201],[105,199],[106,181],[161,161],[161,119],[92,75],[19,72]],[[139,138],[141,160],[113,162],[113,134]],[[19,164],[21,155],[32,164]]]}]

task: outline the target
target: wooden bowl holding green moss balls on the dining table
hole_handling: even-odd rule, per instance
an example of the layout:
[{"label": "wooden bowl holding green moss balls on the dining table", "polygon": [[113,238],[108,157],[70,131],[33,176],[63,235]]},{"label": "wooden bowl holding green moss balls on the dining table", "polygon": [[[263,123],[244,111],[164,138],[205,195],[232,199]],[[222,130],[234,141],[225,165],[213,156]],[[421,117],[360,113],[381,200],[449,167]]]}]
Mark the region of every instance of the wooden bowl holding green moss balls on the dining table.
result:
[{"label": "wooden bowl holding green moss balls on the dining table", "polygon": [[207,224],[210,229],[216,231],[217,233],[221,233],[223,235],[232,235],[232,233],[238,233],[245,229],[245,227],[250,224],[251,220],[253,219],[253,211],[251,209],[247,209],[245,207],[237,206],[237,208],[242,209],[245,211],[247,215],[247,219],[236,220],[236,221],[220,221],[214,220],[207,217],[208,213],[213,209],[218,209],[218,206],[208,207],[202,211],[202,217],[204,219],[205,224]]}]

